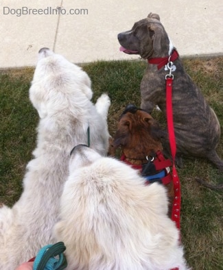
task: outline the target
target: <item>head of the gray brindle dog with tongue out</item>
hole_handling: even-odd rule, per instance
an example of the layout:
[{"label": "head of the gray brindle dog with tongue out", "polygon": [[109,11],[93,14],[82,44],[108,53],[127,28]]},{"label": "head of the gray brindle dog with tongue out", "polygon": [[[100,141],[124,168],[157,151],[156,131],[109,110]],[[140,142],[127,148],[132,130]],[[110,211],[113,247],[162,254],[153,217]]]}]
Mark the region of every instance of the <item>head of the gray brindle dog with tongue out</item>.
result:
[{"label": "head of the gray brindle dog with tongue out", "polygon": [[163,57],[174,49],[158,14],[150,13],[146,19],[134,23],[132,29],[118,34],[120,51],[139,54],[141,58]]}]

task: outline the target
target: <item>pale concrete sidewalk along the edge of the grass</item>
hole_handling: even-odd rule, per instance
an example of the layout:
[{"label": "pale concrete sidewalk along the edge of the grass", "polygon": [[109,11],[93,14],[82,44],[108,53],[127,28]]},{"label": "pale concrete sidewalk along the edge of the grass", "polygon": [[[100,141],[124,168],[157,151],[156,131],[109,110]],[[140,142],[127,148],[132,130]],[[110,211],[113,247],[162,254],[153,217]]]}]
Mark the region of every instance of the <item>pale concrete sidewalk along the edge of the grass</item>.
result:
[{"label": "pale concrete sidewalk along the edge of the grass", "polygon": [[117,34],[150,12],[180,56],[223,54],[222,0],[0,0],[0,68],[34,66],[41,47],[74,63],[137,59],[119,52]]}]

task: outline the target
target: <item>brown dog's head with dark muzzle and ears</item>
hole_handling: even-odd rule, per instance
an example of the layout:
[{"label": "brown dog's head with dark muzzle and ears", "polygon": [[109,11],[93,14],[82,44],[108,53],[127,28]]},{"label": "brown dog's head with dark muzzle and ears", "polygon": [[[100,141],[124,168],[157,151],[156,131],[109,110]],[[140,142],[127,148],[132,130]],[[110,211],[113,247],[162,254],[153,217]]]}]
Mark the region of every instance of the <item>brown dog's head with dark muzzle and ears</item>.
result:
[{"label": "brown dog's head with dark muzzle and ears", "polygon": [[126,157],[143,159],[162,150],[159,123],[148,112],[128,105],[121,114],[113,147],[121,147]]}]

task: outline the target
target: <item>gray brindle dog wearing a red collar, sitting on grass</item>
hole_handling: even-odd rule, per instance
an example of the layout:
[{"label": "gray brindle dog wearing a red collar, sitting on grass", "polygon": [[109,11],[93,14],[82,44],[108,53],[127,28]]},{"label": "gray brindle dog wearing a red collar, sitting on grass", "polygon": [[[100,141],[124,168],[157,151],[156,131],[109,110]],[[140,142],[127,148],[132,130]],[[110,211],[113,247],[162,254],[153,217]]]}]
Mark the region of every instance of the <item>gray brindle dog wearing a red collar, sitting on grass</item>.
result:
[{"label": "gray brindle dog wearing a red collar, sitting on grass", "polygon": [[[165,64],[158,69],[150,64],[152,58],[171,59],[178,56],[169,40],[158,14],[150,13],[148,18],[134,23],[132,29],[118,35],[120,50],[128,54],[139,54],[148,59],[148,67],[141,82],[141,108],[149,113],[155,105],[166,115]],[[174,59],[173,59],[174,60]],[[150,61],[150,62],[149,62]],[[172,103],[174,129],[177,144],[176,162],[180,164],[182,154],[205,157],[221,171],[223,162],[215,149],[220,140],[220,123],[209,107],[198,87],[185,72],[178,57],[174,61]],[[167,135],[166,135],[167,136]],[[165,145],[164,145],[165,147]]]}]

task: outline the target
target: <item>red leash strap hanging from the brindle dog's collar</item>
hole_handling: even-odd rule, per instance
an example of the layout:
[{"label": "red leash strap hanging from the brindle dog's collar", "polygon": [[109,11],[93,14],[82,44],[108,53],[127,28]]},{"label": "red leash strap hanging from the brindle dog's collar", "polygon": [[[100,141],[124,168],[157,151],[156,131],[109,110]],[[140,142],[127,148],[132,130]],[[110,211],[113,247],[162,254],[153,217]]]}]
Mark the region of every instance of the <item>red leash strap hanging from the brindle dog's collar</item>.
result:
[{"label": "red leash strap hanging from the brindle dog's collar", "polygon": [[175,155],[176,155],[176,140],[174,134],[174,116],[173,116],[173,108],[172,108],[172,85],[174,76],[166,75],[166,106],[167,106],[167,127],[169,133],[169,145],[173,158],[173,167],[172,167],[172,176],[173,176],[173,184],[174,184],[174,203],[172,208],[172,220],[176,223],[176,228],[180,230],[180,200],[181,200],[181,192],[180,192],[180,180],[178,174],[176,172],[176,167],[174,164]]}]

